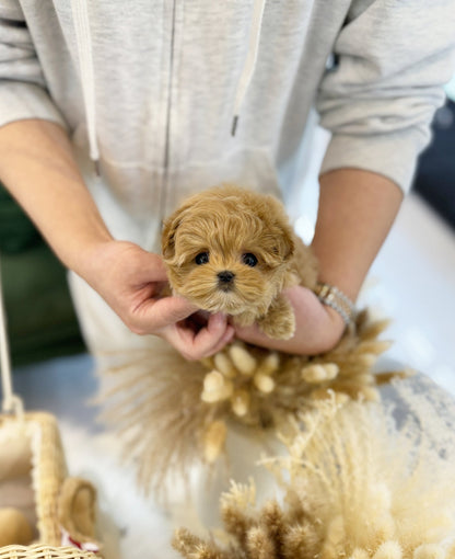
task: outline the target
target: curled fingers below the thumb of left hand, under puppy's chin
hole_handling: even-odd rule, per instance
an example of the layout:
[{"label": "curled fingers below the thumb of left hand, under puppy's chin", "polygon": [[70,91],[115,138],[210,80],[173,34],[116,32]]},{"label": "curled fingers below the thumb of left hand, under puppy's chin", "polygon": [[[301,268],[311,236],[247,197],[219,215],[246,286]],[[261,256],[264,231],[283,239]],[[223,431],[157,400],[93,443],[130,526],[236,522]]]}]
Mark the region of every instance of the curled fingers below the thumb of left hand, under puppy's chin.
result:
[{"label": "curled fingers below the thumb of left hand, under puppy's chin", "polygon": [[190,361],[201,360],[222,350],[234,335],[234,328],[222,313],[211,315],[207,326],[197,333],[184,324],[175,324],[164,332],[165,338]]}]

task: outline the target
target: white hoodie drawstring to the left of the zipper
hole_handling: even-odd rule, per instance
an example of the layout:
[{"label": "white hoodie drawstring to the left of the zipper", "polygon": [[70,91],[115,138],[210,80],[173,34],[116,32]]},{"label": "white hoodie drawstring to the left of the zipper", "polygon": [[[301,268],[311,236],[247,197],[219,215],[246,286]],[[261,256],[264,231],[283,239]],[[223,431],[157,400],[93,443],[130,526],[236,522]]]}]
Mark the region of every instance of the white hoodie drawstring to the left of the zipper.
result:
[{"label": "white hoodie drawstring to the left of the zipper", "polygon": [[85,0],[71,0],[71,8],[78,47],[79,76],[89,134],[90,158],[95,164],[96,174],[100,175],[100,148],[96,138],[95,77],[93,70],[89,9]]}]

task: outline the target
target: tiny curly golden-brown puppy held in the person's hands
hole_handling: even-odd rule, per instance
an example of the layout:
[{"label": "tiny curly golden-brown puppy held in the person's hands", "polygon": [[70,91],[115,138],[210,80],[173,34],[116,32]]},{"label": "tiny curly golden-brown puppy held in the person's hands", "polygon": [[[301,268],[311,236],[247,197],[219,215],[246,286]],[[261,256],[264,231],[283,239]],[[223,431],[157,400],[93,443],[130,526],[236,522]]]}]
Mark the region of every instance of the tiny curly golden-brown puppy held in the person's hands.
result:
[{"label": "tiny curly golden-brown puppy held in the person's hands", "polygon": [[175,294],[238,326],[287,340],[295,318],[284,287],[314,288],[316,260],[270,195],[223,185],[190,197],[164,224],[162,250]]}]

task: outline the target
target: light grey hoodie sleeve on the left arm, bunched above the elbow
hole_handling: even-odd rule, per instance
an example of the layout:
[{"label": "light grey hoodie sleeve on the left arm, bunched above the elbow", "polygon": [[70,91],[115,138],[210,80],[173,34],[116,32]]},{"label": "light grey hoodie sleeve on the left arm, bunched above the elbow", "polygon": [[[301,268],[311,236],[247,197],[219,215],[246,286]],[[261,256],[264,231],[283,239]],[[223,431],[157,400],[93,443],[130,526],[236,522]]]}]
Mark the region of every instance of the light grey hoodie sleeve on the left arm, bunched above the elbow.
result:
[{"label": "light grey hoodie sleeve on the left arm, bunched above the elbow", "polygon": [[15,0],[0,4],[0,126],[43,118],[66,127],[52,103],[24,15]]}]

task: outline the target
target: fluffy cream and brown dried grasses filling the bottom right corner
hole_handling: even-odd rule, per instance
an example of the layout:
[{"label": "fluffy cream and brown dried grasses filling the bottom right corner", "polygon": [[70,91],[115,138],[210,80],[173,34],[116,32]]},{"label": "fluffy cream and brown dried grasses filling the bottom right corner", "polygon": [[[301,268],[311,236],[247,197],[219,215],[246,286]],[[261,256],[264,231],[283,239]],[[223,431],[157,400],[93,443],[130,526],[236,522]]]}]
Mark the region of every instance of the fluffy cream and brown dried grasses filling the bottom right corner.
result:
[{"label": "fluffy cream and brown dried grasses filling the bottom right corner", "polygon": [[185,528],[186,559],[454,559],[455,406],[427,380],[397,404],[336,399],[282,436],[289,456],[264,463],[284,499],[255,505],[253,481],[221,498],[224,537]]}]

